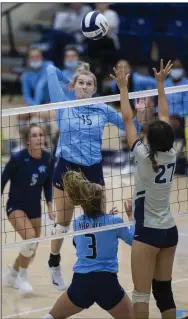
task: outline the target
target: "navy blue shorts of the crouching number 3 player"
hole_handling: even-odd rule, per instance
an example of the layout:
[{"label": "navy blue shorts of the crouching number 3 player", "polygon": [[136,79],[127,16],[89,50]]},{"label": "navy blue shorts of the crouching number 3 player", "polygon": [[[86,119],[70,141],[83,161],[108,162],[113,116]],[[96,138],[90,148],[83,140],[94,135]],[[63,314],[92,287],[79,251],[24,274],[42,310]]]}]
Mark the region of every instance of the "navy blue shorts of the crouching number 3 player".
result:
[{"label": "navy blue shorts of the crouching number 3 player", "polygon": [[110,272],[74,273],[67,290],[71,302],[82,309],[88,309],[95,302],[104,310],[111,310],[123,299],[124,290],[117,274]]}]

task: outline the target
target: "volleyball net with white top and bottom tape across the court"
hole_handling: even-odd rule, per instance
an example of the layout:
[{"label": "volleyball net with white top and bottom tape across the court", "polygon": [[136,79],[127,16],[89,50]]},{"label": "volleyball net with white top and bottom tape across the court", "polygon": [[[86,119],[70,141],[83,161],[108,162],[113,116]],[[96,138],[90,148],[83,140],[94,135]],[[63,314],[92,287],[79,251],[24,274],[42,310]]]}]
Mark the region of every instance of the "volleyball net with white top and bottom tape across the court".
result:
[{"label": "volleyball net with white top and bottom tape across the court", "polygon": [[[188,85],[169,87],[165,89],[167,100],[171,113],[171,124],[175,131],[176,146],[177,146],[177,165],[176,175],[173,181],[173,188],[171,193],[171,211],[175,218],[188,215],[188,178],[187,178],[187,158],[188,158]],[[141,126],[148,120],[157,117],[157,90],[147,90],[129,93],[130,104],[133,108],[135,116],[135,125],[138,133]],[[66,101],[61,103],[51,103],[46,105],[20,107],[2,110],[2,171],[9,161],[11,154],[23,149],[24,134],[27,133],[29,124],[37,123],[45,132],[45,147],[46,150],[55,157],[57,149],[57,141],[59,138],[59,126],[56,120],[56,112],[61,109],[78,108],[88,106],[93,108],[93,105],[107,104],[120,112],[120,96],[110,95],[104,97],[95,97],[86,100]],[[179,106],[184,108],[184,114],[178,115],[177,110]],[[108,110],[108,107],[107,107]],[[109,108],[109,110],[111,110]],[[69,114],[69,112],[65,113]],[[67,115],[68,116],[68,115]],[[92,117],[99,119],[97,108],[95,112],[86,116],[79,116],[78,121],[82,121],[86,125],[86,129],[92,132]],[[62,118],[66,121],[67,118]],[[71,118],[68,120],[71,120]],[[88,128],[89,127],[89,128]],[[80,128],[81,129],[81,128]],[[70,125],[70,130],[74,131],[74,127]],[[77,135],[81,136],[79,130]],[[100,126],[99,126],[100,130]],[[99,134],[100,135],[100,134]],[[99,138],[101,138],[99,136]],[[82,143],[80,139],[80,143]],[[67,142],[68,143],[68,142]],[[70,141],[71,143],[71,141]],[[61,146],[61,145],[60,145]],[[63,145],[62,153],[63,153]],[[82,146],[81,146],[82,147]],[[85,146],[84,146],[85,147]],[[91,145],[88,145],[89,149]],[[92,154],[91,154],[92,157]],[[117,207],[120,216],[123,218],[124,223],[114,224],[104,227],[96,227],[92,232],[104,231],[114,228],[124,227],[130,225],[124,209],[124,201],[132,198],[134,188],[134,158],[129,151],[126,135],[124,130],[111,123],[107,123],[102,135],[102,157],[103,157],[103,172],[105,178],[106,189],[106,209],[109,213],[113,207]],[[2,225],[2,246],[8,248],[12,246],[19,246],[22,240],[15,230],[12,228],[7,219],[6,205],[8,200],[10,183],[5,187],[2,196],[2,209],[1,209],[1,225]],[[41,238],[27,240],[27,242],[40,242],[49,239],[62,238],[66,236],[74,236],[86,234],[91,232],[90,229],[82,229],[79,232],[74,232],[72,223],[70,231],[62,235],[51,235],[52,227],[55,221],[48,218],[47,206],[45,203],[44,195],[41,200],[42,207],[42,235]],[[56,211],[55,202],[53,201],[53,210]],[[73,220],[82,214],[82,209],[76,207],[73,215]],[[72,220],[72,221],[73,221]],[[24,241],[26,242],[26,241]]]}]

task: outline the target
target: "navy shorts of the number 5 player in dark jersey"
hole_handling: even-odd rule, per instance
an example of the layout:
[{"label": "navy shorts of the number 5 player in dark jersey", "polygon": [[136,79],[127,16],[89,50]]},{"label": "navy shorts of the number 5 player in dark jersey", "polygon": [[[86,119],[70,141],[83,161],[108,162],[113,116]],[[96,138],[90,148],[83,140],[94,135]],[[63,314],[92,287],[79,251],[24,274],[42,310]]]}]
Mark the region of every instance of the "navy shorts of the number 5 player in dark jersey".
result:
[{"label": "navy shorts of the number 5 player in dark jersey", "polygon": [[41,203],[21,202],[15,199],[8,199],[6,212],[9,216],[15,210],[23,210],[29,219],[41,217]]}]

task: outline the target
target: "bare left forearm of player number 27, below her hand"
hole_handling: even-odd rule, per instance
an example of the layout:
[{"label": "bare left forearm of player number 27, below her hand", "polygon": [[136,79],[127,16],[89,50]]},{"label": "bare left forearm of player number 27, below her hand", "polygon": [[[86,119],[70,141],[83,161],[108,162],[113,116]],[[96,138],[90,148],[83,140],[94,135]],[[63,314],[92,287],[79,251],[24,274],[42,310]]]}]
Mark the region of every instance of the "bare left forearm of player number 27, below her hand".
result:
[{"label": "bare left forearm of player number 27, below her hand", "polygon": [[125,122],[132,121],[133,111],[129,103],[129,94],[127,88],[120,89],[121,112]]}]

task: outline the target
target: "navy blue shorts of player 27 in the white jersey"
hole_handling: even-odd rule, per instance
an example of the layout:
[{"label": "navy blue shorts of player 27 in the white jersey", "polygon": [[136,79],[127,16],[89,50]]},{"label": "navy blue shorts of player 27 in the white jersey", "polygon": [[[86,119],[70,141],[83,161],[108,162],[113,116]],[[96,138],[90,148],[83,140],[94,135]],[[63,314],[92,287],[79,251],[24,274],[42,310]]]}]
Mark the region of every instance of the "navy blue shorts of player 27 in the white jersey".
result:
[{"label": "navy blue shorts of player 27 in the white jersey", "polygon": [[178,243],[178,229],[174,226],[169,229],[156,229],[149,227],[135,227],[134,240],[154,246],[156,248],[169,248]]}]

